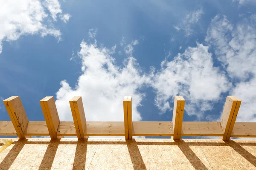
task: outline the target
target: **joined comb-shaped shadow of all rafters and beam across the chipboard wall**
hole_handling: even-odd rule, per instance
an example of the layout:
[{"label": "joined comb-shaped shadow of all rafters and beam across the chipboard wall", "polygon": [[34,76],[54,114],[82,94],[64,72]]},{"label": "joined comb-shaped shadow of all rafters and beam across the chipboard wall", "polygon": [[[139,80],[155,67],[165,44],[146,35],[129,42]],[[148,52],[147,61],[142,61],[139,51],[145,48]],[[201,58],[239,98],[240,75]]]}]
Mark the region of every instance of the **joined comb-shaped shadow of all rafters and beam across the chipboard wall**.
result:
[{"label": "joined comb-shaped shadow of all rafters and beam across the chipboard wall", "polygon": [[183,152],[183,154],[186,156],[186,158],[189,160],[189,162],[192,164],[192,166],[195,169],[204,170],[207,169],[207,167],[204,165],[204,163],[198,158],[198,156],[193,152],[193,150],[189,147],[192,145],[200,145],[200,146],[230,146],[234,150],[236,150],[237,153],[239,153],[241,156],[244,157],[247,161],[249,161],[253,166],[256,167],[256,157],[253,156],[251,153],[249,153],[247,150],[245,150],[243,145],[245,146],[256,146],[256,143],[253,142],[235,142],[233,140],[230,140],[229,142],[186,142],[183,140],[180,141],[166,141],[166,142],[143,142],[138,141],[136,142],[135,139],[132,140],[126,140],[126,141],[88,141],[88,139],[85,140],[78,140],[78,141],[61,141],[59,139],[51,140],[51,141],[28,141],[25,140],[18,140],[13,142],[14,146],[9,151],[9,153],[6,155],[6,157],[3,159],[3,161],[0,163],[0,167],[3,168],[3,170],[8,170],[15,159],[17,158],[18,154],[22,150],[23,146],[25,144],[48,144],[47,150],[44,154],[44,157],[41,161],[39,170],[44,169],[51,169],[52,163],[55,158],[55,154],[58,149],[58,145],[60,144],[76,144],[76,153],[73,163],[73,170],[84,170],[86,166],[86,155],[87,155],[87,145],[88,144],[122,144],[127,145],[129,155],[131,157],[131,162],[133,164],[134,170],[137,169],[146,169],[145,163],[143,161],[143,158],[141,156],[140,150],[138,145],[176,145],[180,148],[180,150]]}]

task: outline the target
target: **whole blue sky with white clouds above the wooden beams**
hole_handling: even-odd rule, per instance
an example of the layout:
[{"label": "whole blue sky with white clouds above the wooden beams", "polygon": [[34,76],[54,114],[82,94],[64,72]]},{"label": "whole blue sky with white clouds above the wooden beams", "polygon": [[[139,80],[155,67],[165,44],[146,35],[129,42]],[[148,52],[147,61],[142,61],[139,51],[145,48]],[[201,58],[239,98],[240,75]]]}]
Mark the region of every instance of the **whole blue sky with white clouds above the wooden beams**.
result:
[{"label": "whole blue sky with white clouds above the wooden beams", "polygon": [[[88,121],[219,121],[227,95],[256,122],[256,1],[12,0],[0,6],[0,99],[20,96],[29,120],[54,96],[60,119],[82,96]],[[9,120],[3,102],[0,120]]]}]

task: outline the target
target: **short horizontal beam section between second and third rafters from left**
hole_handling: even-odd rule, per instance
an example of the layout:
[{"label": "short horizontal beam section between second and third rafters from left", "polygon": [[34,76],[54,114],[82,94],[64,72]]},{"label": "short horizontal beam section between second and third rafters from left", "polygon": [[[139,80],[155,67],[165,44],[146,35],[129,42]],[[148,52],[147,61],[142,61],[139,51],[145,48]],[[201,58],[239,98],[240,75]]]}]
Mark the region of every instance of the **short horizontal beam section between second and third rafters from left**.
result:
[{"label": "short horizontal beam section between second and third rafters from left", "polygon": [[74,122],[60,122],[58,136],[77,136]]}]

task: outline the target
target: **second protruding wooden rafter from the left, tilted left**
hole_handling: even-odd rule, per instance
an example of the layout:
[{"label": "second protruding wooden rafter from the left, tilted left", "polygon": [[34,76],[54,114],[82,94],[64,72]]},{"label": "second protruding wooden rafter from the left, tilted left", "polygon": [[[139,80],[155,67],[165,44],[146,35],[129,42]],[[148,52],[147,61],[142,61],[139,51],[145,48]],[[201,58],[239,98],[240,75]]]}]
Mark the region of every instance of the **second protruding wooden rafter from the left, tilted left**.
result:
[{"label": "second protruding wooden rafter from the left, tilted left", "polygon": [[57,131],[60,124],[58,111],[55,105],[54,97],[47,96],[40,100],[40,105],[44,113],[44,119],[49,130],[51,139],[58,139]]}]

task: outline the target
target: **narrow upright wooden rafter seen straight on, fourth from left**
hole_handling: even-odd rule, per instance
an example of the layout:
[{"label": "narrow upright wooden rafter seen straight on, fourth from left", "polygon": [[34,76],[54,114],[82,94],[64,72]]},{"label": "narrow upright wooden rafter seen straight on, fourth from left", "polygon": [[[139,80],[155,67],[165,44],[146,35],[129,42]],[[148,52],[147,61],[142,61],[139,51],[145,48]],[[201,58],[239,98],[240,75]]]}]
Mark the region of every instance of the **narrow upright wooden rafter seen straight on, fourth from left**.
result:
[{"label": "narrow upright wooden rafter seen straight on, fourth from left", "polygon": [[132,139],[132,106],[131,96],[125,96],[124,105],[124,123],[125,123],[125,139]]}]

